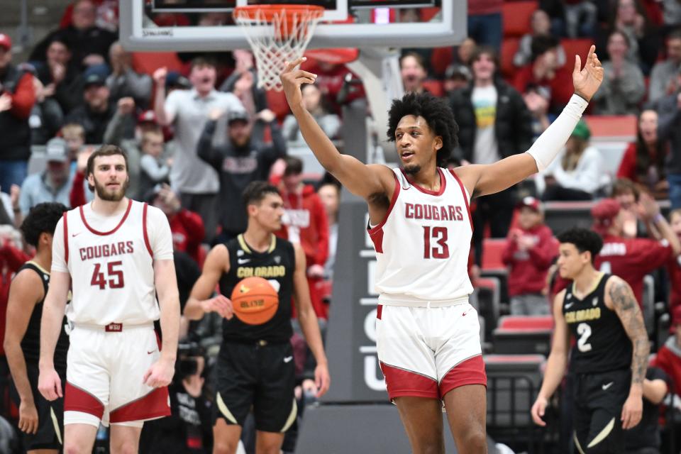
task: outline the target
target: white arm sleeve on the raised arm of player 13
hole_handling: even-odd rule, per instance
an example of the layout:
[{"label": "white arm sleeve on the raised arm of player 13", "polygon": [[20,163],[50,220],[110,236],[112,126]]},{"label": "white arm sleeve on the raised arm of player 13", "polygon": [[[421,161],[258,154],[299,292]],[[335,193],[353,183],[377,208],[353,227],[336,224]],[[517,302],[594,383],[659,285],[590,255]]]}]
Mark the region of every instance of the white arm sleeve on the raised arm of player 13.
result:
[{"label": "white arm sleeve on the raised arm of player 13", "polygon": [[588,104],[585,99],[573,94],[563,112],[527,150],[526,153],[529,153],[537,162],[539,172],[546,169],[560,150],[563,149],[563,145],[570,138],[570,134],[572,134],[575,126],[577,126],[577,122],[582,118],[582,112],[584,112]]}]

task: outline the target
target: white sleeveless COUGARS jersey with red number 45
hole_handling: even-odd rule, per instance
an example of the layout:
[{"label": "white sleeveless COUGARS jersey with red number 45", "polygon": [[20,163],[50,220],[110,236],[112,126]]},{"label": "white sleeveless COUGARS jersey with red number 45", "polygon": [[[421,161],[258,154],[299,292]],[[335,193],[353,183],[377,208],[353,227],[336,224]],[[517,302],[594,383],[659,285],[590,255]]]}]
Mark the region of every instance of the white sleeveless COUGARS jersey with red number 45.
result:
[{"label": "white sleeveless COUGARS jersey with red number 45", "polygon": [[149,323],[159,318],[147,204],[129,201],[116,227],[90,226],[83,206],[64,214],[65,261],[72,277],[70,321],[106,326]]}]

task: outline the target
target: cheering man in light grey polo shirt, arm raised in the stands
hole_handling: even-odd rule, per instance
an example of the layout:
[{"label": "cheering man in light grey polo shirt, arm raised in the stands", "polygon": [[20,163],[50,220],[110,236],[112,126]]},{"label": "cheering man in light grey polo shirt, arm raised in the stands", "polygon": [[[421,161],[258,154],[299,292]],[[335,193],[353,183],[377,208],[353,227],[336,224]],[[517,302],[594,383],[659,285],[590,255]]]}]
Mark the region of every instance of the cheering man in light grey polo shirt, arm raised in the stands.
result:
[{"label": "cheering man in light grey polo shirt, arm raised in the stands", "polygon": [[[206,240],[211,241],[218,224],[220,177],[215,167],[198,157],[196,145],[211,111],[245,110],[233,94],[216,91],[216,66],[210,60],[203,57],[192,60],[189,72],[192,89],[176,89],[166,97],[166,76],[165,67],[154,72],[154,111],[161,126],[175,126],[174,165],[170,182],[173,189],[179,192],[182,206],[199,213],[204,219]],[[240,196],[236,195],[236,198],[240,199]]]}]

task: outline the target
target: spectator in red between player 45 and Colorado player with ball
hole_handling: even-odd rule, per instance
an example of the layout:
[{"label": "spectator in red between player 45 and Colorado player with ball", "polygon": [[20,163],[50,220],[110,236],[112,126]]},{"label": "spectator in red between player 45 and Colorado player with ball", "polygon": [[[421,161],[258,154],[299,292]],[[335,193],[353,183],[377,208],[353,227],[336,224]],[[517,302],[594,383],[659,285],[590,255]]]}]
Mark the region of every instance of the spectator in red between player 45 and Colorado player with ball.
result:
[{"label": "spectator in red between player 45 and Colorado player with ball", "polygon": [[165,214],[170,223],[172,248],[189,254],[196,263],[203,264],[201,241],[206,236],[204,221],[194,211],[182,208],[179,197],[167,184],[157,184],[147,192],[145,201]]}]

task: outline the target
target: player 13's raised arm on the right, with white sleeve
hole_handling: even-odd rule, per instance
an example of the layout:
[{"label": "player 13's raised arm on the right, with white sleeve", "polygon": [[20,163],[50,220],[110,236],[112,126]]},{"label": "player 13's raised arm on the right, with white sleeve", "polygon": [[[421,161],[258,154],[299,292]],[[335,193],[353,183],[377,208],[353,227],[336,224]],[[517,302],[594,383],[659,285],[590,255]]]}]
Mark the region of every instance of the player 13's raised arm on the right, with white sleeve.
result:
[{"label": "player 13's raised arm on the right, with white sleeve", "polygon": [[603,81],[603,67],[595,50],[592,45],[583,69],[580,56],[575,55],[575,69],[572,71],[575,94],[560,116],[526,153],[506,157],[494,164],[459,167],[455,171],[470,194],[481,196],[503,191],[548,167],[570,138],[582,112]]}]

